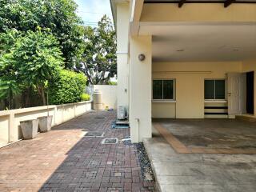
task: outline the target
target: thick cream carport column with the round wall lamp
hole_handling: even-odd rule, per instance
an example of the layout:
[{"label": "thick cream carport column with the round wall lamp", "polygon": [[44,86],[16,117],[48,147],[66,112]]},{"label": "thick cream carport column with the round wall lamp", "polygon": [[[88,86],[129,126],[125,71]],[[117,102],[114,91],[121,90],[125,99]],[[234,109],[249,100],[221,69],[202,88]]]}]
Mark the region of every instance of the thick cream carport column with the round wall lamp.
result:
[{"label": "thick cream carport column with the round wall lamp", "polygon": [[[132,142],[151,138],[151,36],[130,37],[130,136]],[[138,56],[145,55],[140,61]]]}]

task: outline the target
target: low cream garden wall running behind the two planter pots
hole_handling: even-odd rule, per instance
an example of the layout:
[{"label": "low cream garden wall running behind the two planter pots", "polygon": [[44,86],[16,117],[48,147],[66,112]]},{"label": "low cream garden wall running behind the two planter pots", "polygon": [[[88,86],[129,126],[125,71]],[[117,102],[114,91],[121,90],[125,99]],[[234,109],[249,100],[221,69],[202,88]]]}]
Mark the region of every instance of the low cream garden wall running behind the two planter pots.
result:
[{"label": "low cream garden wall running behind the two planter pots", "polygon": [[58,106],[37,106],[0,111],[0,147],[22,138],[21,121],[53,115],[52,126],[57,126],[91,110],[91,102],[76,102]]}]

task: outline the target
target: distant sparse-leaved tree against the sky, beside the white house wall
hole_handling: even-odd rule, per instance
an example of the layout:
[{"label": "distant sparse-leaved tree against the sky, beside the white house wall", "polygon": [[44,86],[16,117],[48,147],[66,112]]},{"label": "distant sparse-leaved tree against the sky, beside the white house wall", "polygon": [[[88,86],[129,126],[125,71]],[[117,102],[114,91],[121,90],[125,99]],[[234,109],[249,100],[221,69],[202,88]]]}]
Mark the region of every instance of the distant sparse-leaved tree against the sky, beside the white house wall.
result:
[{"label": "distant sparse-leaved tree against the sky, beside the white house wall", "polygon": [[104,15],[98,27],[85,27],[85,50],[76,70],[83,71],[90,84],[107,84],[117,74],[116,38],[110,18]]}]

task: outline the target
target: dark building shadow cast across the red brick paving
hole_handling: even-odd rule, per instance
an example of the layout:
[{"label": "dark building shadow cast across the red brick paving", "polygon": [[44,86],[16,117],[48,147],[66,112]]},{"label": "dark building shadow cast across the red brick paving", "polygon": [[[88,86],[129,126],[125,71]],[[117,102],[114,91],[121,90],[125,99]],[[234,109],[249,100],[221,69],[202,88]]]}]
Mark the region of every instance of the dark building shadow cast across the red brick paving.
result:
[{"label": "dark building shadow cast across the red brick paving", "polygon": [[[154,190],[154,182],[142,178],[135,146],[120,142],[130,135],[130,129],[111,129],[114,118],[115,111],[92,112],[56,126],[54,131],[97,130],[105,134],[95,138],[82,136],[39,191]],[[102,145],[103,138],[118,138],[119,143]]]}]

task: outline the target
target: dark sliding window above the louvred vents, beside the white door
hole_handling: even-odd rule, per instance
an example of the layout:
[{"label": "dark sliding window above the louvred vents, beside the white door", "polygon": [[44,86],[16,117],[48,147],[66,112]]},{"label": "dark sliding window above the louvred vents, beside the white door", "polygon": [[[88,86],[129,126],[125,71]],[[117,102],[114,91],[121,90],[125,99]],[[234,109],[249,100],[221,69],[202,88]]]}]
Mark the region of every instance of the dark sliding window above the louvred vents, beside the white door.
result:
[{"label": "dark sliding window above the louvred vents, beside the white door", "polygon": [[225,79],[205,80],[205,99],[222,100],[225,99]]}]

